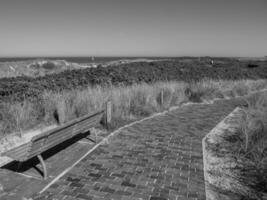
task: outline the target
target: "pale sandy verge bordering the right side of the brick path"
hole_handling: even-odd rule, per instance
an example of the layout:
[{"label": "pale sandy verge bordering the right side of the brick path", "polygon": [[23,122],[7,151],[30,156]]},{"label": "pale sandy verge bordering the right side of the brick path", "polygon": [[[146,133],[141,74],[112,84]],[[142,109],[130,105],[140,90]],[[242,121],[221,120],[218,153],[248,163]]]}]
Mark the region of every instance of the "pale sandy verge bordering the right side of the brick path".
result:
[{"label": "pale sandy verge bordering the right side of the brick path", "polygon": [[[206,200],[235,200],[241,199],[242,195],[253,199],[259,197],[252,188],[238,181],[239,164],[227,149],[231,142],[222,145],[227,143],[224,138],[240,130],[243,115],[241,108],[235,108],[202,139]],[[223,155],[216,154],[218,151],[214,147]]]}]

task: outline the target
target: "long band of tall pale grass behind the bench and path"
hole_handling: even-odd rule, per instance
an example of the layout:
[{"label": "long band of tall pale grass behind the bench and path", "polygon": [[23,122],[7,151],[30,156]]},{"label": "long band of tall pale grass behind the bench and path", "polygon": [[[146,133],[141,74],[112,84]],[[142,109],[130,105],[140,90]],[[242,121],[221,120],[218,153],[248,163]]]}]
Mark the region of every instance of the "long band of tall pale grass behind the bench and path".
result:
[{"label": "long band of tall pale grass behind the bench and path", "polygon": [[[0,137],[67,121],[113,105],[113,126],[186,102],[231,98],[267,88],[266,80],[157,82],[132,86],[97,86],[83,90],[44,91],[35,102],[0,103]],[[56,119],[55,115],[58,116]]]}]

